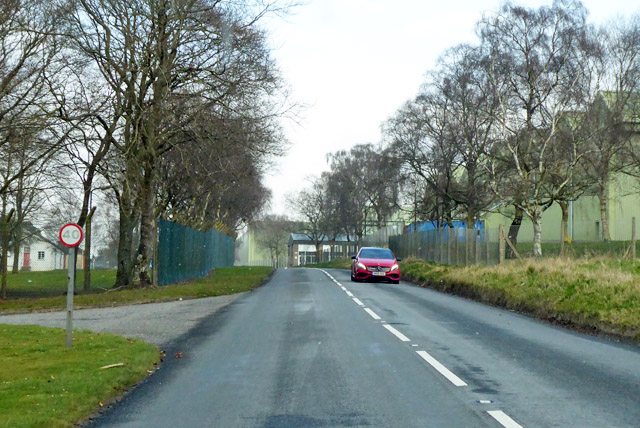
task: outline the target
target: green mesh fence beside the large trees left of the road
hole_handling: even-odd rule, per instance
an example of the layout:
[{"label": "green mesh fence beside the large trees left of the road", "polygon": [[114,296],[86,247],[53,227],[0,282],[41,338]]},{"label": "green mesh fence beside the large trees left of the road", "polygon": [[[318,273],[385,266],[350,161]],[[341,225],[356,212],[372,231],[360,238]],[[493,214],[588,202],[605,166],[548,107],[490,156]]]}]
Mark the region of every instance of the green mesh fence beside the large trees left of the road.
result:
[{"label": "green mesh fence beside the large trees left of the road", "polygon": [[233,266],[235,240],[230,236],[163,219],[158,228],[158,285],[202,278],[214,268]]}]

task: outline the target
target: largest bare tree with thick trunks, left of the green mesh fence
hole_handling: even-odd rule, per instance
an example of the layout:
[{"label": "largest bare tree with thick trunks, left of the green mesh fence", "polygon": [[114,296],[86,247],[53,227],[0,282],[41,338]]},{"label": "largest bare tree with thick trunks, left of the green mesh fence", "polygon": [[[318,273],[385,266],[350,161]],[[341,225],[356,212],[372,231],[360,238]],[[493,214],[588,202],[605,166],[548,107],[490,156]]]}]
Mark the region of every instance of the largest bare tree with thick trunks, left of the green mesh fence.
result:
[{"label": "largest bare tree with thick trunks, left of the green mesh fence", "polygon": [[[108,170],[120,206],[118,283],[150,283],[158,167],[203,111],[242,111],[277,92],[279,78],[250,7],[214,0],[79,0],[69,26],[74,48],[103,76],[113,100],[120,159]],[[110,92],[110,93],[108,93]],[[272,112],[273,113],[273,112]],[[128,243],[139,222],[135,263]],[[132,270],[135,269],[135,273]]]}]

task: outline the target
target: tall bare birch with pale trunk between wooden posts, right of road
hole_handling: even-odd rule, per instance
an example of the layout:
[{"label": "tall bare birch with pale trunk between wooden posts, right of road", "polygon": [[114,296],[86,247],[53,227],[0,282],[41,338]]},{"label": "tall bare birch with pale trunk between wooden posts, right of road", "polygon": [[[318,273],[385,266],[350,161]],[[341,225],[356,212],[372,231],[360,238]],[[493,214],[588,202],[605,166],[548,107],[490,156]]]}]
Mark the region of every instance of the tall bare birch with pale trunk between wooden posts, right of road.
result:
[{"label": "tall bare birch with pale trunk between wooden posts, right of road", "polygon": [[492,189],[531,219],[537,257],[542,255],[542,212],[568,186],[578,161],[577,142],[572,142],[576,155],[560,183],[549,186],[550,171],[561,170],[551,148],[559,141],[558,124],[582,95],[578,90],[585,60],[578,48],[588,40],[586,14],[573,0],[556,0],[539,9],[506,3],[478,26],[489,53],[493,90],[499,96],[495,120],[501,151],[514,171],[506,182],[498,181],[492,162]]}]

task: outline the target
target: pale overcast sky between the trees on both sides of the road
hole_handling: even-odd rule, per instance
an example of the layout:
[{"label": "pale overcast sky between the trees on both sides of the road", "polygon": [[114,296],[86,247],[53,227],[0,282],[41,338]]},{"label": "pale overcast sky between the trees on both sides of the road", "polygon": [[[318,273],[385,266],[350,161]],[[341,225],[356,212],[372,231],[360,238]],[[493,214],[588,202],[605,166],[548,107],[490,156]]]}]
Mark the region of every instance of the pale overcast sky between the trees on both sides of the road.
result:
[{"label": "pale overcast sky between the trees on both sides of the road", "polygon": [[[298,123],[284,121],[291,146],[266,185],[271,212],[288,214],[287,194],[328,169],[326,155],[378,143],[380,125],[414,97],[438,57],[475,43],[475,24],[502,0],[306,0],[270,20],[273,56],[294,100],[307,105]],[[516,0],[538,7],[551,0]],[[590,20],[629,16],[629,0],[584,0]]]}]

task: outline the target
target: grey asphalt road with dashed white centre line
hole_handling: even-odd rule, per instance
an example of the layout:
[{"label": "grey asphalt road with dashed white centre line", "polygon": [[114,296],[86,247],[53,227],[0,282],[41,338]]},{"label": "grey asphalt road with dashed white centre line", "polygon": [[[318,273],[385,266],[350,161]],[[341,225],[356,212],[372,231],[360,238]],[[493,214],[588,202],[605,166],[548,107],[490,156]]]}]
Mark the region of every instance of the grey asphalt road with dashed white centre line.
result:
[{"label": "grey asphalt road with dashed white centre line", "polygon": [[170,352],[90,426],[640,426],[640,348],[347,271],[279,270]]}]

